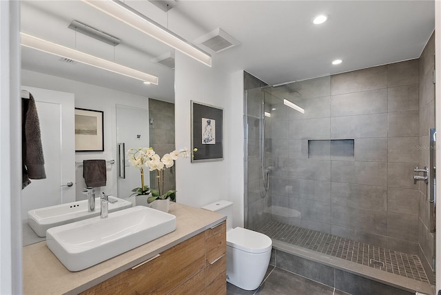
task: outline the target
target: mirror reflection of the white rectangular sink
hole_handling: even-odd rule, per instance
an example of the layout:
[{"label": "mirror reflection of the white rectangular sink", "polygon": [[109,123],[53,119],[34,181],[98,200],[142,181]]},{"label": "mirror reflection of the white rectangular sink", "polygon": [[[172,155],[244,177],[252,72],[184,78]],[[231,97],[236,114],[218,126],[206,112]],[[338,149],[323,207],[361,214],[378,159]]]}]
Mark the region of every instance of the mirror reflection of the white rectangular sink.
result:
[{"label": "mirror reflection of the white rectangular sink", "polygon": [[[109,212],[132,207],[132,203],[123,199],[109,196]],[[116,201],[116,202],[115,202]],[[43,207],[28,211],[28,224],[37,236],[46,236],[46,230],[74,221],[98,216],[101,210],[99,198],[95,198],[95,211],[88,211],[88,200]]]}]

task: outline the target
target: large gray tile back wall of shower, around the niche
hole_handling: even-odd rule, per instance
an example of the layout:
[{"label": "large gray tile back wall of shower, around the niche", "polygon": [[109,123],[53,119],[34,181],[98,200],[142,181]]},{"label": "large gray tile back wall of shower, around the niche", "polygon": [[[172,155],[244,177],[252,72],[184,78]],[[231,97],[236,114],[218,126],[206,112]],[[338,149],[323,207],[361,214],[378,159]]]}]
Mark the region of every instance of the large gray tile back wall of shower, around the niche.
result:
[{"label": "large gray tile back wall of shower, around the niche", "polygon": [[[300,81],[265,96],[277,109],[267,118],[274,220],[418,254],[419,64]],[[284,107],[283,98],[305,115]],[[327,143],[335,139],[353,140],[352,154],[333,158]],[[315,190],[300,187],[308,181]]]}]

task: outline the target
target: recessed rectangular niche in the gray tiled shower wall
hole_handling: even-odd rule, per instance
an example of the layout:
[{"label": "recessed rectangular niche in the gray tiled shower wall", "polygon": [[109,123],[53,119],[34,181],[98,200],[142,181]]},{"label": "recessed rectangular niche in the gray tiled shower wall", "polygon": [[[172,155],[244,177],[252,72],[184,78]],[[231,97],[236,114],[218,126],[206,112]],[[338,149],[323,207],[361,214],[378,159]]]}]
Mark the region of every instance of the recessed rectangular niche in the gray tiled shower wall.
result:
[{"label": "recessed rectangular niche in the gray tiled shower wall", "polygon": [[353,160],[353,139],[308,140],[308,159]]}]

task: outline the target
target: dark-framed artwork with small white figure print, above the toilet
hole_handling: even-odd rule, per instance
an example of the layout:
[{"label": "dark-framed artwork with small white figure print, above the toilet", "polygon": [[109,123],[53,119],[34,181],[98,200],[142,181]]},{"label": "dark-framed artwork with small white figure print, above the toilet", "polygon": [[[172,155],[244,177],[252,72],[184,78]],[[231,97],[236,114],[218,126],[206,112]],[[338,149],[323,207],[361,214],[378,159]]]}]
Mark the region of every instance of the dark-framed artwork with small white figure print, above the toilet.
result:
[{"label": "dark-framed artwork with small white figure print, above the toilet", "polygon": [[223,109],[197,101],[191,103],[192,162],[223,160]]}]

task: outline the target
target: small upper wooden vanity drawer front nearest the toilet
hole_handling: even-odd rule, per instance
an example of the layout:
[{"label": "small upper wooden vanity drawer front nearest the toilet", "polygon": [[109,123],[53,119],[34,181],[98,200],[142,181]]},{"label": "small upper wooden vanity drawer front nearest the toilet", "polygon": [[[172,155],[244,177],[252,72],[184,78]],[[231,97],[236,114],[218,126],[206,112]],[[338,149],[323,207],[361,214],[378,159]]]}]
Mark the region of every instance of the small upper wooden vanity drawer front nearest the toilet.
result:
[{"label": "small upper wooden vanity drawer front nearest the toilet", "polygon": [[205,252],[206,261],[211,264],[227,251],[227,225],[223,221],[215,227],[205,231]]}]

